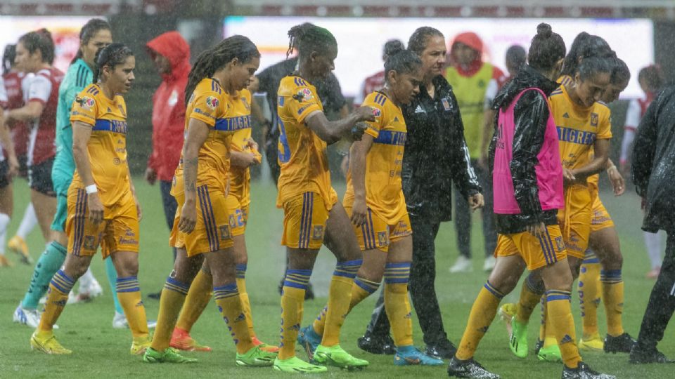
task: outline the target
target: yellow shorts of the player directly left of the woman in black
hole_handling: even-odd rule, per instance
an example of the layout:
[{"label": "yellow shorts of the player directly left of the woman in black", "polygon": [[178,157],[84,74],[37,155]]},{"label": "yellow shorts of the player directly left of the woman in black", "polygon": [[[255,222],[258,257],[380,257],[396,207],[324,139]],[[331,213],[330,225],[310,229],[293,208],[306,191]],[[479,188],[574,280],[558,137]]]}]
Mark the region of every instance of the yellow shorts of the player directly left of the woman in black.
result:
[{"label": "yellow shorts of the player directly left of the woman in black", "polygon": [[[349,217],[352,216],[351,207],[345,207],[345,211],[347,211]],[[407,212],[400,220],[390,225],[368,208],[366,222],[359,227],[355,226],[354,234],[356,234],[356,239],[359,240],[361,250],[366,251],[376,248],[387,253],[390,244],[413,234],[413,230],[410,227],[410,218]]]}]

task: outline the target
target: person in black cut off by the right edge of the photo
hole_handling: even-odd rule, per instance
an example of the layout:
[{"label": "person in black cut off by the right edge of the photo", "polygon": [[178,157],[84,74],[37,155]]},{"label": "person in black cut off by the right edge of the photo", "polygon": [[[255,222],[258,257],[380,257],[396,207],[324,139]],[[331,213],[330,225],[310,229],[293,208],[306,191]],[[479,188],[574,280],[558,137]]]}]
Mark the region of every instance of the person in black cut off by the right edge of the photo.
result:
[{"label": "person in black cut off by the right edge of the photo", "polygon": [[663,338],[675,310],[675,87],[662,91],[647,108],[635,139],[631,171],[644,199],[647,232],[668,234],[661,273],[642,319],[638,342],[629,361],[665,363],[656,345]]}]

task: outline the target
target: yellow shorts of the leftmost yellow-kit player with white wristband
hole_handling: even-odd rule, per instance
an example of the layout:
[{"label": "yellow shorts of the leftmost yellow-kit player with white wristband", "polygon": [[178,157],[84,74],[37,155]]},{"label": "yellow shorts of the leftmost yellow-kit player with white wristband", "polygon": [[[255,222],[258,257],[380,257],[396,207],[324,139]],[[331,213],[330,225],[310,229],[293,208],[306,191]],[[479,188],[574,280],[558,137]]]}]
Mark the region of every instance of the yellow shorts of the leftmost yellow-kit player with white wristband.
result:
[{"label": "yellow shorts of the leftmost yellow-kit player with white wristband", "polygon": [[79,256],[92,256],[101,246],[103,259],[117,251],[139,252],[139,215],[131,192],[117,204],[103,208],[103,222],[94,225],[89,221],[89,206],[84,188],[68,189],[68,252]]}]

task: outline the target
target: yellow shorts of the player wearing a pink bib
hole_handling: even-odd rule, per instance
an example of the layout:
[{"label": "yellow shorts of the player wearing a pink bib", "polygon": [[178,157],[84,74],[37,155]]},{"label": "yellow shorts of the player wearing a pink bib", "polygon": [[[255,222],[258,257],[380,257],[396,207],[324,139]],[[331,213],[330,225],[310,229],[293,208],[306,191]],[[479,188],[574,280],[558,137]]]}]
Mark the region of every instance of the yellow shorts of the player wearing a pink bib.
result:
[{"label": "yellow shorts of the player wearing a pink bib", "polygon": [[567,258],[560,226],[548,225],[546,236],[543,238],[536,237],[529,232],[499,234],[494,256],[508,257],[517,254],[525,261],[529,271],[553,265]]}]

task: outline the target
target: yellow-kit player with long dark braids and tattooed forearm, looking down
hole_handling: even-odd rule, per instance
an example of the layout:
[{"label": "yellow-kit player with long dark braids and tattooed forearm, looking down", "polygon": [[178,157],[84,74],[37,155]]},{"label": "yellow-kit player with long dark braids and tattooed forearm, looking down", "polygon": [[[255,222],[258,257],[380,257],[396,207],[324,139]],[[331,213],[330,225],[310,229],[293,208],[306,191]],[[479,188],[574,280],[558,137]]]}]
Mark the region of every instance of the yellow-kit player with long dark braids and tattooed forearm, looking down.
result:
[{"label": "yellow-kit player with long dark braids and tattooed forearm, looking down", "polygon": [[260,53],[248,38],[231,36],[201,53],[188,77],[186,137],[172,188],[180,210],[170,237],[176,262],[162,291],[153,343],[143,356],[148,363],[195,361],[178,354],[169,342],[188,288],[204,263],[236,345],[236,364],[270,366],[275,357],[252,343],[246,325],[226,206],[232,135],[244,122],[235,114],[233,98],[240,96],[259,63]]}]

